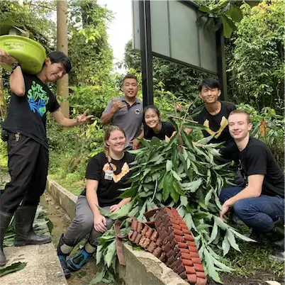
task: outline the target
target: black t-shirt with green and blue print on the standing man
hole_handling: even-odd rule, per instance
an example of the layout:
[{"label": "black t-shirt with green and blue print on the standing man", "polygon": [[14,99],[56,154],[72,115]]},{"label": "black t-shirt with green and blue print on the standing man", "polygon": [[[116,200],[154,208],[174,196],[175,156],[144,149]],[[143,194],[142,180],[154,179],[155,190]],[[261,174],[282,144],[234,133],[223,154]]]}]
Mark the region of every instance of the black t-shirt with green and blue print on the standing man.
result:
[{"label": "black t-shirt with green and blue print on the standing man", "polygon": [[26,93],[17,96],[11,93],[6,120],[2,124],[4,130],[11,133],[22,133],[46,148],[46,112],[54,112],[60,108],[55,94],[35,74],[23,74]]}]

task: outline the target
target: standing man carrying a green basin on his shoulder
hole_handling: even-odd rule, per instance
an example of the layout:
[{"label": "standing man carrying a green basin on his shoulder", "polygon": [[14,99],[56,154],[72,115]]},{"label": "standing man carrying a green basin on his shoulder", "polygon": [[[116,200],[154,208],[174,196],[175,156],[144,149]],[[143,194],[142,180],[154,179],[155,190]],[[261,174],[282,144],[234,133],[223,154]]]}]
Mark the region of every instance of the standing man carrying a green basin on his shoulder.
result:
[{"label": "standing man carrying a green basin on his shoulder", "polygon": [[0,50],[0,63],[12,68],[11,103],[2,125],[8,141],[11,176],[0,199],[0,266],[3,266],[6,264],[4,235],[15,212],[16,246],[51,242],[49,236],[35,235],[33,231],[35,211],[47,180],[46,112],[50,111],[55,121],[64,127],[82,125],[92,116],[86,116],[85,111],[76,119],[65,118],[55,94],[46,85],[69,73],[71,63],[63,52],[50,52],[38,74],[25,74],[16,59],[4,50]]}]

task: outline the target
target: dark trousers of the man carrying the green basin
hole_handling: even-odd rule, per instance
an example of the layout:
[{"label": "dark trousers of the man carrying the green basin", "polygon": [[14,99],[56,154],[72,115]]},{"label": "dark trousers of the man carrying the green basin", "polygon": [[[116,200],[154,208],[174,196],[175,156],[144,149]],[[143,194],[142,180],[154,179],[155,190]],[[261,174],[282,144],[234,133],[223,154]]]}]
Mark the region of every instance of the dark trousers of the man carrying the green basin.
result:
[{"label": "dark trousers of the man carrying the green basin", "polygon": [[35,206],[45,191],[48,150],[25,135],[9,133],[8,168],[11,181],[0,199],[0,211],[14,213],[18,206]]}]

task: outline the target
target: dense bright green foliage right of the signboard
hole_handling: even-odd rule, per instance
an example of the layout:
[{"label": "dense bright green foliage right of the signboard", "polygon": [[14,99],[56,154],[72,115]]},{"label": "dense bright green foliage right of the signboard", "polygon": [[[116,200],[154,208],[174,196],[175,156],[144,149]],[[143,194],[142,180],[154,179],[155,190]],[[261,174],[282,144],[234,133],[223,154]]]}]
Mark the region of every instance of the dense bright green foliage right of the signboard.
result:
[{"label": "dense bright green foliage right of the signboard", "polygon": [[285,1],[263,1],[243,11],[228,61],[235,101],[284,108]]}]

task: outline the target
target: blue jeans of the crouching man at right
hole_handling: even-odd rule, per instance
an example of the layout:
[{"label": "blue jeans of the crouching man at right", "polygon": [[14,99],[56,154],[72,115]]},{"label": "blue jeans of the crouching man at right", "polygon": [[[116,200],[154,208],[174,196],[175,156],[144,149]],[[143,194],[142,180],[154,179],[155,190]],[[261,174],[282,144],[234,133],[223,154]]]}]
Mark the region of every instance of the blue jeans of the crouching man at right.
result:
[{"label": "blue jeans of the crouching man at right", "polygon": [[[244,187],[225,188],[220,193],[220,202],[225,201],[242,191]],[[233,211],[246,225],[256,232],[272,230],[274,222],[285,223],[285,199],[280,196],[261,195],[241,199],[233,205]]]}]

